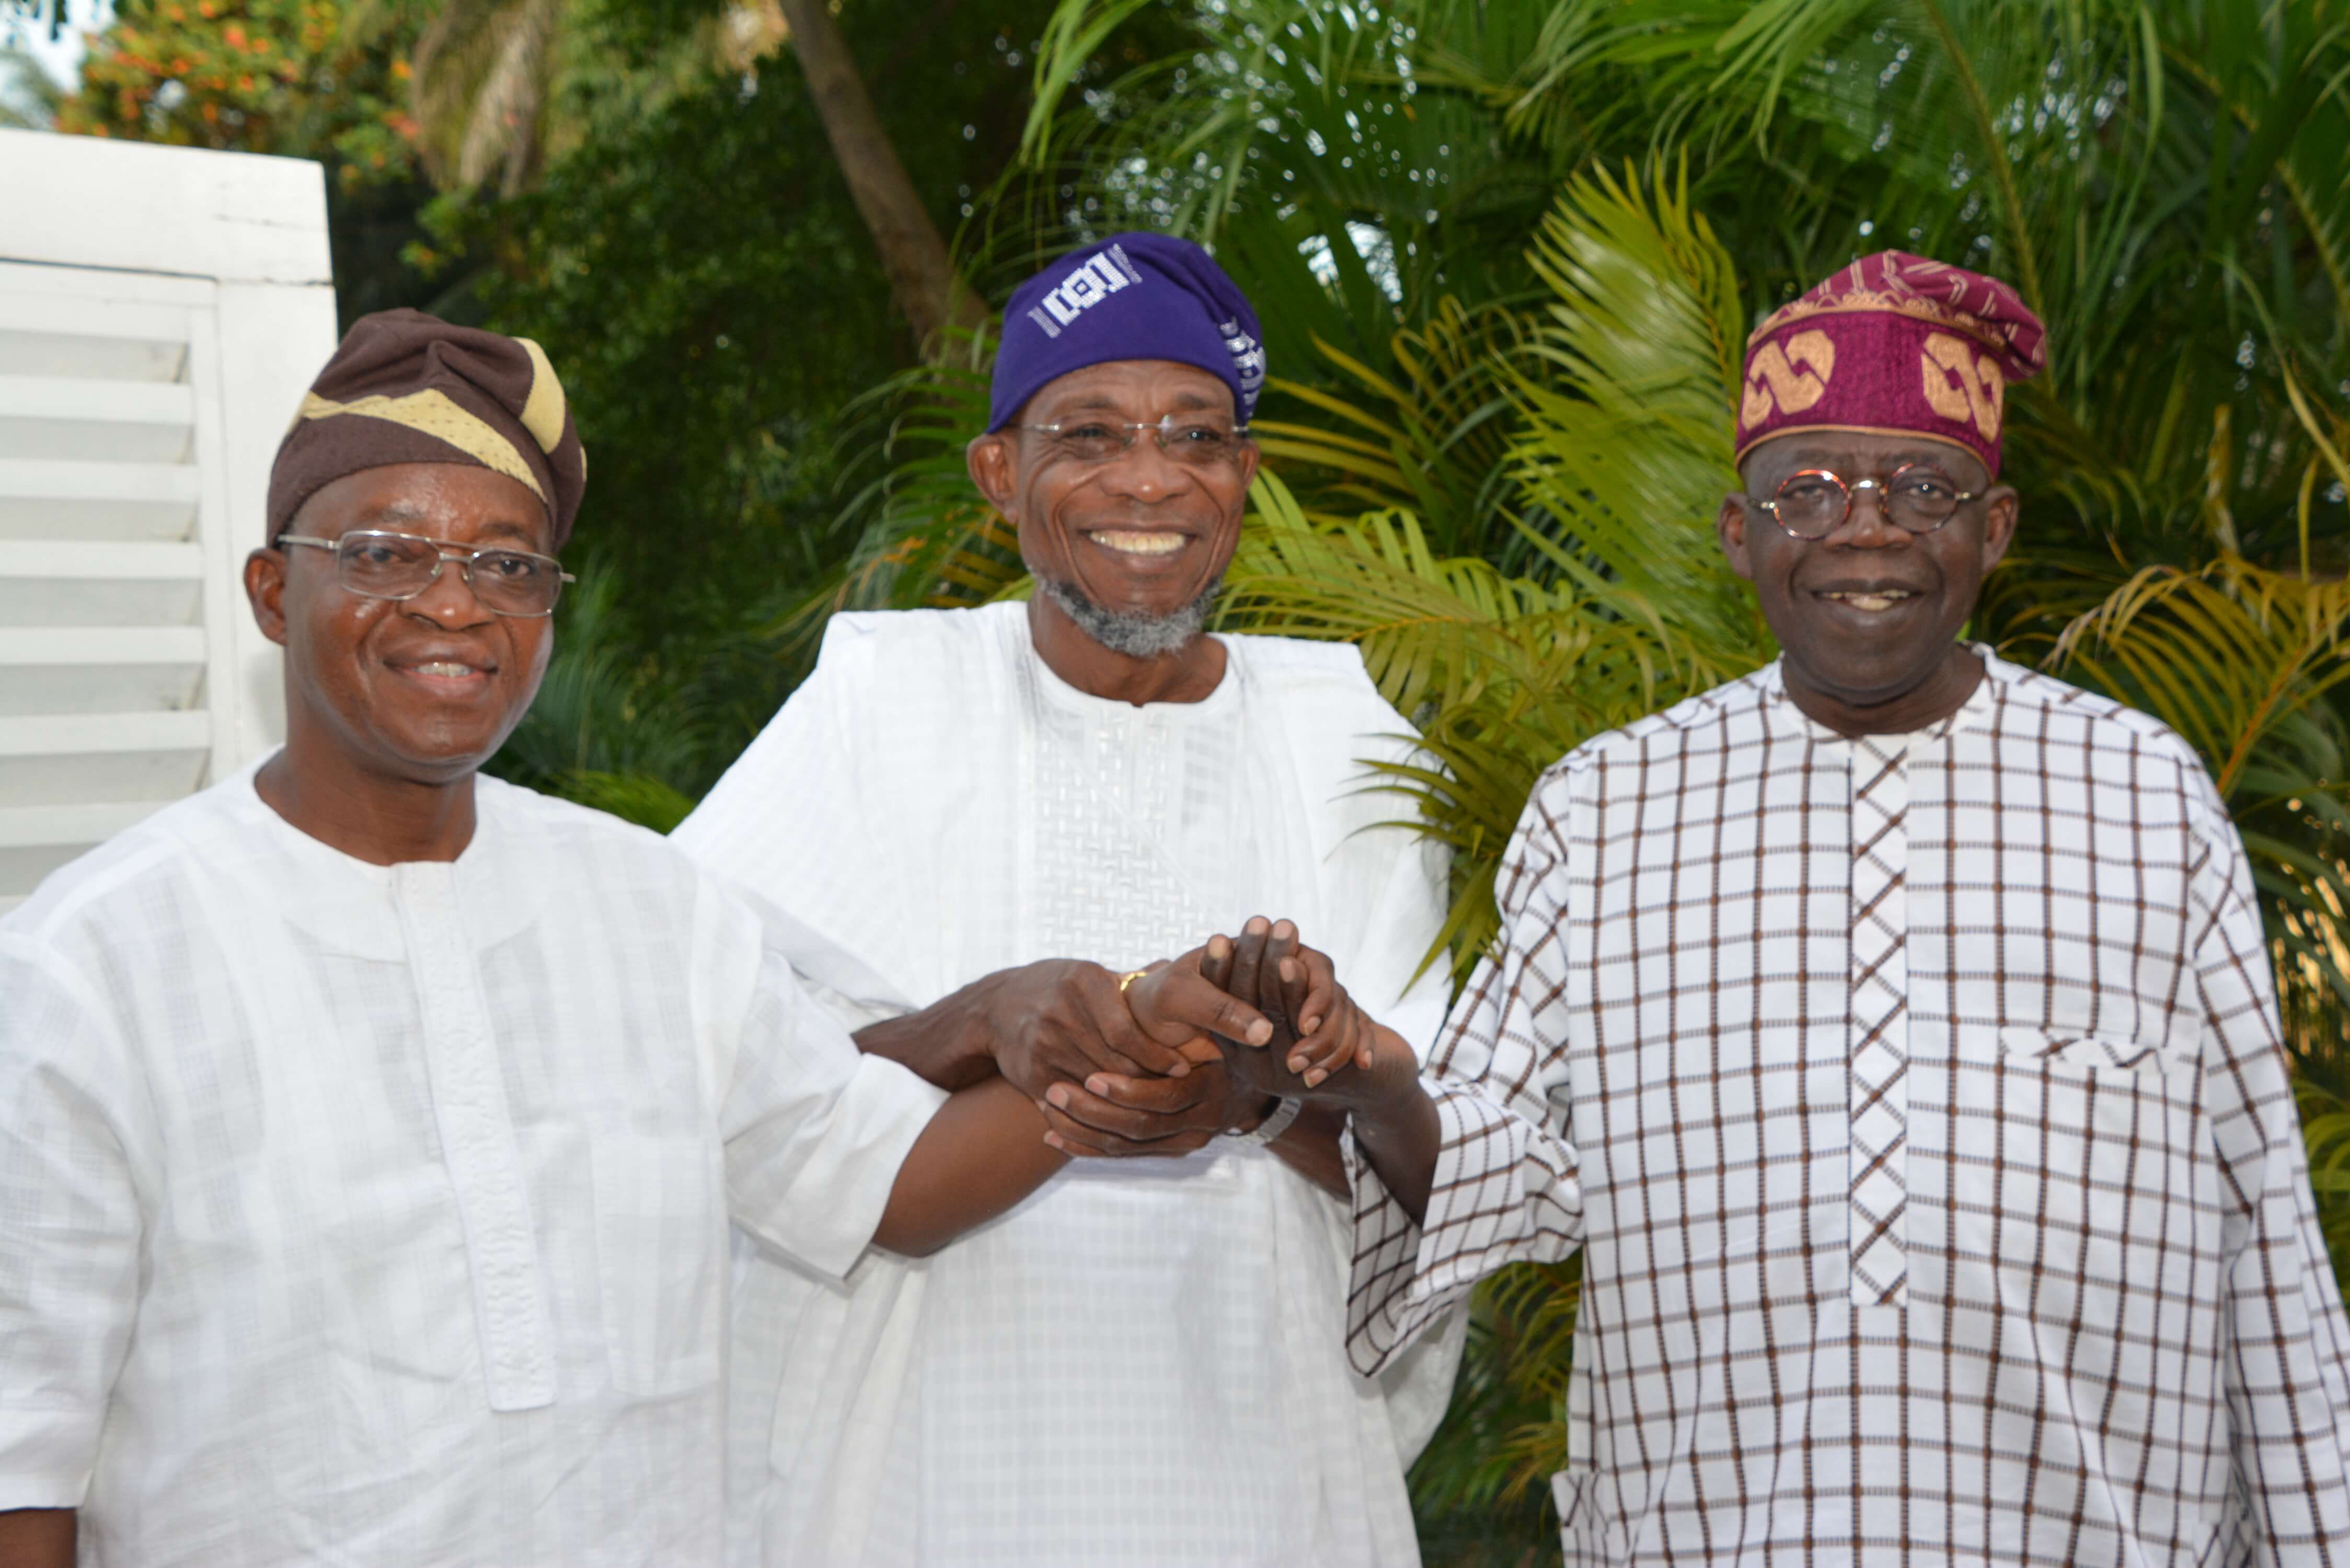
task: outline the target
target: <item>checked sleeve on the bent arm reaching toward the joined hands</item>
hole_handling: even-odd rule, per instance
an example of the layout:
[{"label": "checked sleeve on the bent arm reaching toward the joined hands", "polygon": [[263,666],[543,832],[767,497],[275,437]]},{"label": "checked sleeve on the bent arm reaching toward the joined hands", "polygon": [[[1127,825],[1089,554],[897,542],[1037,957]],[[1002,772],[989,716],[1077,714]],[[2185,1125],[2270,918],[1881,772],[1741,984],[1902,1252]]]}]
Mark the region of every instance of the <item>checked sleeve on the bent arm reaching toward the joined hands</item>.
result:
[{"label": "checked sleeve on the bent arm reaching toward the joined hands", "polygon": [[1556,1262],[1582,1244],[1584,1192],[1567,1143],[1565,835],[1553,773],[1502,856],[1502,945],[1452,1009],[1429,1063],[1441,1140],[1426,1227],[1347,1140],[1354,1279],[1347,1354],[1375,1373],[1478,1279],[1506,1262]]}]

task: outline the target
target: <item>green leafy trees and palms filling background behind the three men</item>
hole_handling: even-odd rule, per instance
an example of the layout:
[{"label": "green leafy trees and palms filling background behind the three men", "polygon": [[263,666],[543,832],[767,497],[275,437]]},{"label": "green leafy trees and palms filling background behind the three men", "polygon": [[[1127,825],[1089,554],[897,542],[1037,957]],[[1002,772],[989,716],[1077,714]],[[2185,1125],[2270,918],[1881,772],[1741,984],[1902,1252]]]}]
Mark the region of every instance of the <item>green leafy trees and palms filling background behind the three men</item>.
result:
[{"label": "green leafy trees and palms filling background behind the three men", "polygon": [[[583,583],[503,771],[667,827],[834,609],[1022,592],[961,470],[989,334],[926,357],[895,324],[757,5],[204,2],[118,0],[59,125],[327,160],[345,310],[526,331],[573,388]],[[1539,769],[1772,656],[1713,545],[1755,320],[1887,247],[2016,282],[2052,362],[2009,400],[2023,534],[1972,632],[2211,766],[2350,1262],[2343,0],[834,9],[989,299],[1116,228],[1213,244],[1255,299],[1267,473],[1222,623],[1361,644],[1422,726],[1379,783],[1455,851],[1455,964]],[[223,75],[200,24],[235,19],[275,75]],[[418,47],[475,63],[402,101]],[[451,174],[468,139],[496,174]],[[1478,1293],[1412,1474],[1431,1561],[1556,1561],[1572,1319],[1572,1265]]]}]

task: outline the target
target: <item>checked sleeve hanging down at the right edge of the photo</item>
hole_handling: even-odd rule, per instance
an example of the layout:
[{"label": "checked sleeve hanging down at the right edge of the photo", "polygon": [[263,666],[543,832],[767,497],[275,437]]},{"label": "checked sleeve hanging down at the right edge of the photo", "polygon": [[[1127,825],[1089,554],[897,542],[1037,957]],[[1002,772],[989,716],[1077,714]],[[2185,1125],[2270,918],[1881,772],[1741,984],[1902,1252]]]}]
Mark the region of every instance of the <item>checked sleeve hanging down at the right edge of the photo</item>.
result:
[{"label": "checked sleeve hanging down at the right edge of the photo", "polygon": [[[2216,806],[2216,802],[2214,802]],[[2223,1168],[2223,1359],[2261,1563],[2350,1561],[2350,1324],[2310,1199],[2251,867],[2225,820],[2195,882],[2204,1086]]]}]

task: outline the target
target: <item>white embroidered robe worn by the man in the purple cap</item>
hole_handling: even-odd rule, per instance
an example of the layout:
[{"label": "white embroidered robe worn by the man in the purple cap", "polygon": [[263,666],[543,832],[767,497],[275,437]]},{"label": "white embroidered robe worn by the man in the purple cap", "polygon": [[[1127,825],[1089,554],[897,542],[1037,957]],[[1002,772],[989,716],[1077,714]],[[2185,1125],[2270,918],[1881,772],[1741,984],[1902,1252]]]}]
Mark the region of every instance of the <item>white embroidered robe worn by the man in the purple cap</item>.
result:
[{"label": "white embroidered robe worn by the man in the purple cap", "polygon": [[[1419,1048],[1445,867],[1363,790],[1408,726],[1349,646],[1227,649],[1206,701],[1135,708],[1060,682],[1020,604],[837,616],[677,839],[808,926],[794,957],[853,1023],[1285,914]],[[1403,1469],[1457,1340],[1358,1378],[1347,1211],[1264,1150],[1076,1161],[846,1291],[745,1253],[743,1563],[1417,1561]]]}]

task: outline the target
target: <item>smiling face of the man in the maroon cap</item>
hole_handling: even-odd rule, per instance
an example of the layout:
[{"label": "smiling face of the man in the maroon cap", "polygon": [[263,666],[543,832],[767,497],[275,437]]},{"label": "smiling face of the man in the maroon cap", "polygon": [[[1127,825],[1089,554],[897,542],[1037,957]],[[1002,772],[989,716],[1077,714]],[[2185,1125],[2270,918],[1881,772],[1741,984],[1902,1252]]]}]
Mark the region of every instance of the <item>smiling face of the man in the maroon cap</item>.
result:
[{"label": "smiling face of the man in the maroon cap", "polygon": [[[1981,494],[1936,531],[1911,534],[1885,517],[1882,491],[1861,489],[1852,515],[1814,541],[1788,538],[1760,505],[1805,468],[1852,484],[1889,480],[1913,463]],[[1755,585],[1798,705],[1847,733],[1901,733],[1955,712],[1981,675],[1958,632],[2014,538],[2016,494],[1993,487],[1960,447],[1842,430],[1762,442],[1746,454],[1741,477],[1746,491],[1723,501],[1723,552]]]}]

